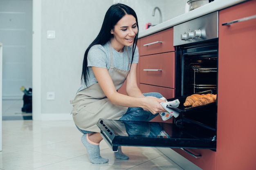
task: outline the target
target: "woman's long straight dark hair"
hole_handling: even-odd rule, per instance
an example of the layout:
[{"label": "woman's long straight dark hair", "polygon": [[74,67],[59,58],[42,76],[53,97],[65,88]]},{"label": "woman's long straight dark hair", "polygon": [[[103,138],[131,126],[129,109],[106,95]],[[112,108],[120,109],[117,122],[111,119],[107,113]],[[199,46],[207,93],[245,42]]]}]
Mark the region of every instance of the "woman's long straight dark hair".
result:
[{"label": "woman's long straight dark hair", "polygon": [[[114,26],[117,24],[117,22],[121,20],[121,18],[123,18],[124,15],[126,14],[134,16],[137,22],[137,28],[139,32],[138,19],[135,11],[125,4],[119,4],[119,3],[113,4],[106,12],[105,18],[103,20],[103,24],[101,26],[101,31],[99,32],[97,38],[95,38],[92,44],[90,44],[90,46],[85,51],[84,58],[83,58],[83,71],[81,76],[81,81],[84,81],[85,84],[87,84],[88,76],[89,76],[89,69],[87,67],[88,51],[92,46],[96,44],[100,44],[100,45],[106,44],[113,37],[113,34],[110,33],[111,29],[114,29]],[[137,40],[138,40],[138,34],[135,36],[135,39],[132,45],[132,60],[135,53]]]}]

